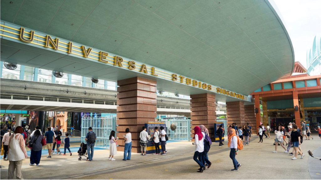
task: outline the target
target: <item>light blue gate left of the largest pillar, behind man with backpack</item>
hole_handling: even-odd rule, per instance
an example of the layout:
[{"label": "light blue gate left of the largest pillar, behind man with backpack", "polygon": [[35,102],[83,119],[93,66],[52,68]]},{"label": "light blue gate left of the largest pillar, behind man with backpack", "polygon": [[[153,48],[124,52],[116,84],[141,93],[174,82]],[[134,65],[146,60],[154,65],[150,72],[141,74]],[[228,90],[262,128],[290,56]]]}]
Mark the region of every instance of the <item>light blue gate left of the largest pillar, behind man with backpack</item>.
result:
[{"label": "light blue gate left of the largest pillar, behind man with backpack", "polygon": [[[116,132],[115,117],[82,117],[81,142],[86,144],[85,138],[88,128],[92,127],[97,139],[95,147],[109,148],[109,135],[112,130]],[[116,135],[115,135],[116,136]]]}]

